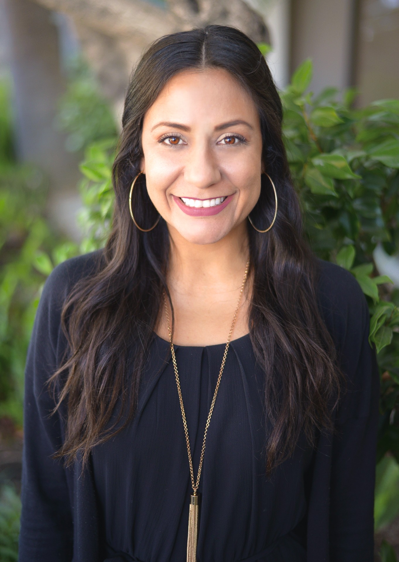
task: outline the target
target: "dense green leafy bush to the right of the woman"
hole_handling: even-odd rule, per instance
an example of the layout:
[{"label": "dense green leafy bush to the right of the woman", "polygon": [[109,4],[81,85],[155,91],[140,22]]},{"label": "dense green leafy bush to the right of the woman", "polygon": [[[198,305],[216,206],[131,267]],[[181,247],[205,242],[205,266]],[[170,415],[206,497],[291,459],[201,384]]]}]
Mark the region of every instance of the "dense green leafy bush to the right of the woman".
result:
[{"label": "dense green leafy bush to the right of the woman", "polygon": [[311,61],[282,93],[289,164],[315,252],[351,271],[370,307],[370,337],[382,373],[378,460],[399,461],[398,290],[379,275],[373,251],[399,250],[399,100],[352,109],[353,90],[305,93]]}]

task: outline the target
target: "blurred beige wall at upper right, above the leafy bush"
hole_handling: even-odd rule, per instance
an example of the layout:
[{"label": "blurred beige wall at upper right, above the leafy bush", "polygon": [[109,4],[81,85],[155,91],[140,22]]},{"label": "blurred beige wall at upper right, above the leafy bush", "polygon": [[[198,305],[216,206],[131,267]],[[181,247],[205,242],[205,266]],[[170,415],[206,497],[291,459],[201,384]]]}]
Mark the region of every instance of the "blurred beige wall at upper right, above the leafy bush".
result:
[{"label": "blurred beige wall at upper right, above the leafy bush", "polygon": [[399,0],[292,0],[291,72],[310,57],[311,89],[356,86],[357,105],[399,97]]}]

